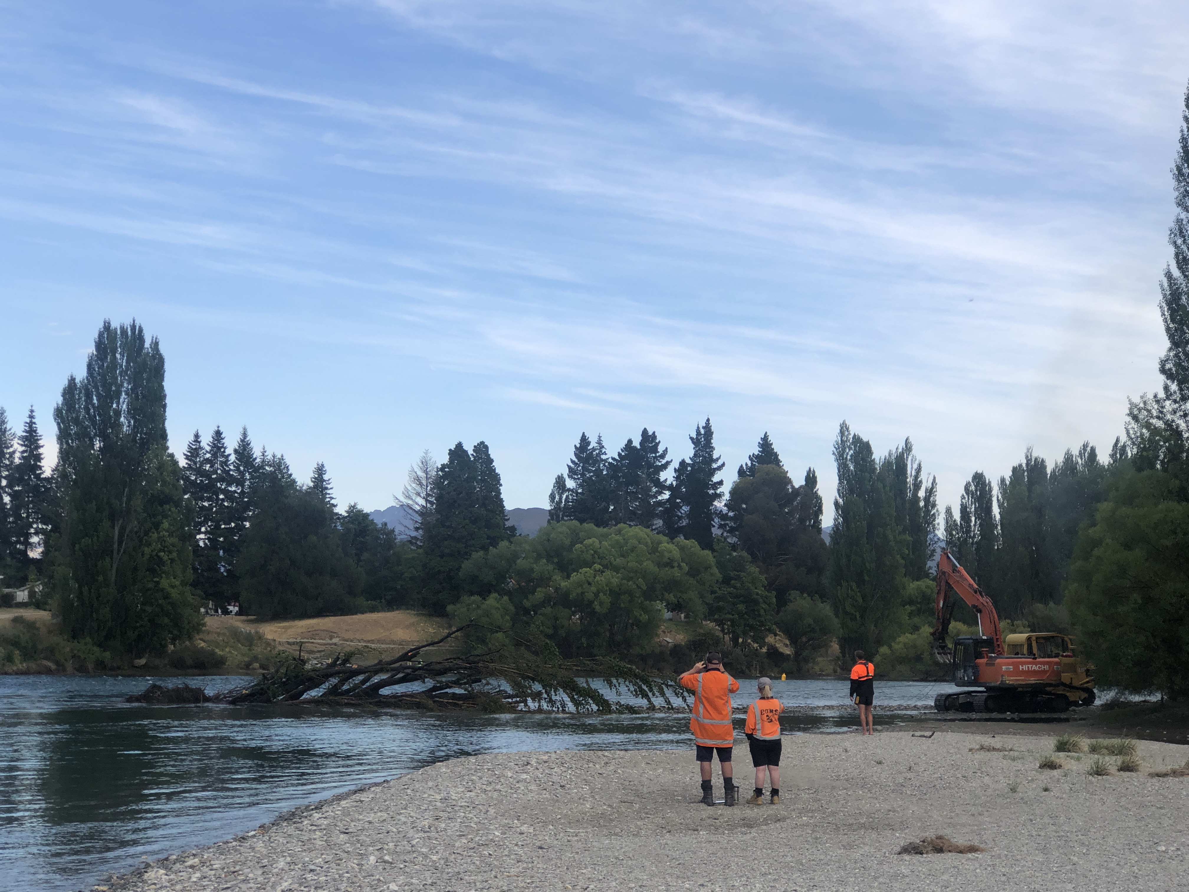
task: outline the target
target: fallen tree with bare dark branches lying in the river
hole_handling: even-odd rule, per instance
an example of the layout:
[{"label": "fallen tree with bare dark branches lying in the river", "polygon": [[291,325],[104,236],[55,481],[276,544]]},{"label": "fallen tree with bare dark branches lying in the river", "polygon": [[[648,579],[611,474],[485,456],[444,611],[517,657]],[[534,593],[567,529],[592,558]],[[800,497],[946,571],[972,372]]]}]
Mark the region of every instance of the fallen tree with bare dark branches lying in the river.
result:
[{"label": "fallen tree with bare dark branches lying in the river", "polygon": [[440,659],[424,659],[429,648],[477,628],[480,627],[474,623],[461,626],[436,641],[366,666],[351,662],[350,652],[336,655],[325,666],[308,666],[300,655],[290,655],[254,684],[210,695],[208,702],[233,705],[296,701],[367,703],[397,709],[483,712],[568,709],[635,712],[641,709],[609,697],[592,684],[594,678],[612,695],[627,693],[643,701],[644,709],[673,708],[669,695],[685,701],[682,689],[621,660],[566,660],[541,636],[516,636],[503,629],[489,630],[498,634],[497,640],[507,642],[503,646],[489,645],[490,649],[479,652],[472,647]]}]

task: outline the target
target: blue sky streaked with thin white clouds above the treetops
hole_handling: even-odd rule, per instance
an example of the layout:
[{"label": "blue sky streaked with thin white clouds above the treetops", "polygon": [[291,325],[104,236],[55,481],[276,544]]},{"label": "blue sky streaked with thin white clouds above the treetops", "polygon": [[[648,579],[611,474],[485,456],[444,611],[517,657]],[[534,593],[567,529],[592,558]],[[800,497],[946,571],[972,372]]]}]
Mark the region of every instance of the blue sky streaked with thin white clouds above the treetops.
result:
[{"label": "blue sky streaked with thin white clouds above the treetops", "polygon": [[[484,439],[707,415],[833,492],[838,422],[944,502],[1121,432],[1189,78],[1182,2],[0,2],[0,404],[105,316],[181,450],[249,427],[340,502]],[[828,509],[828,520],[830,510]]]}]

